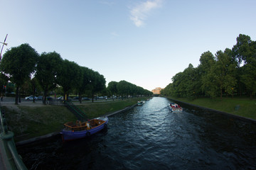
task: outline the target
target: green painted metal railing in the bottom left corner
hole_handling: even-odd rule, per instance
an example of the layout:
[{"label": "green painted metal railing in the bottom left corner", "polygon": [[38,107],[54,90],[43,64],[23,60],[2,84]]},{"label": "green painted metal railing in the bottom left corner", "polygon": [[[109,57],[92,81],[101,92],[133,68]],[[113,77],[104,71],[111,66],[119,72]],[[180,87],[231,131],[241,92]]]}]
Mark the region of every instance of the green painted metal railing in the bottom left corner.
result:
[{"label": "green painted metal railing in the bottom left corner", "polygon": [[3,111],[0,110],[1,130],[0,130],[0,164],[4,169],[18,169],[25,170],[26,166],[23,164],[21,156],[16,150],[14,143],[14,133],[7,129],[6,119]]}]

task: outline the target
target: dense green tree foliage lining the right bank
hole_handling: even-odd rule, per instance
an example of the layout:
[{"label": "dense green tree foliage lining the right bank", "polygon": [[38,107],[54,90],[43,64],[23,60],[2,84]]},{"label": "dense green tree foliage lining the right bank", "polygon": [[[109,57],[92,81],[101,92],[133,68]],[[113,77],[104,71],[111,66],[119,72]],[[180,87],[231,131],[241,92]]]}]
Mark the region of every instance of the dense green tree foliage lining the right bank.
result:
[{"label": "dense green tree foliage lining the right bank", "polygon": [[[242,67],[240,67],[242,65]],[[239,35],[233,49],[219,50],[215,56],[203,52],[200,64],[192,64],[172,77],[172,83],[161,94],[174,97],[223,97],[256,94],[256,42],[248,35]]]}]

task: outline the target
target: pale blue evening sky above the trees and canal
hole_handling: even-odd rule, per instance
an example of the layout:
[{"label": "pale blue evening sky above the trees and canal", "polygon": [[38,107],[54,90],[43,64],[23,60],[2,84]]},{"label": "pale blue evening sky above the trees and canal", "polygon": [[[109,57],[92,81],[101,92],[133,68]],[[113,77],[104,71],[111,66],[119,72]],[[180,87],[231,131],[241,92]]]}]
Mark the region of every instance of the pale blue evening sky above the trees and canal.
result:
[{"label": "pale blue evening sky above the trees and canal", "polygon": [[[151,91],[164,88],[203,52],[256,40],[255,0],[0,0],[0,42],[58,52]],[[2,44],[0,44],[2,47]],[[107,86],[106,84],[106,86]]]}]

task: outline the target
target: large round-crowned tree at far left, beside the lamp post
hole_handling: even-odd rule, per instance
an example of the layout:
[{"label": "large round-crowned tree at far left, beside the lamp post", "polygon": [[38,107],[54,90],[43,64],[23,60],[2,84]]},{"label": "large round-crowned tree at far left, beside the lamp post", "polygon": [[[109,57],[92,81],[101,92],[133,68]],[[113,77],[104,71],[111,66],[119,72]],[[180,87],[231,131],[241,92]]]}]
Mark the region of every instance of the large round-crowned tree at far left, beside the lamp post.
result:
[{"label": "large round-crowned tree at far left, beside the lamp post", "polygon": [[15,104],[18,104],[18,89],[36,69],[38,53],[28,44],[12,47],[7,50],[1,61],[1,72],[7,74],[16,84]]}]

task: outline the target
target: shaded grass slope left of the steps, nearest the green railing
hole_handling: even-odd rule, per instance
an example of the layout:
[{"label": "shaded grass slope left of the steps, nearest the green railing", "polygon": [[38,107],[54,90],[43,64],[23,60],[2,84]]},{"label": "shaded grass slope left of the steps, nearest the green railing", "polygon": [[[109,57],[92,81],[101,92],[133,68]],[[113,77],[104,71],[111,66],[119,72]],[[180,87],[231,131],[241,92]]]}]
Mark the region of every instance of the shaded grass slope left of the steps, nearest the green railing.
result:
[{"label": "shaded grass slope left of the steps, nearest the green railing", "polygon": [[18,106],[19,111],[4,106],[10,131],[16,142],[60,131],[63,123],[76,120],[75,115],[62,106]]}]

